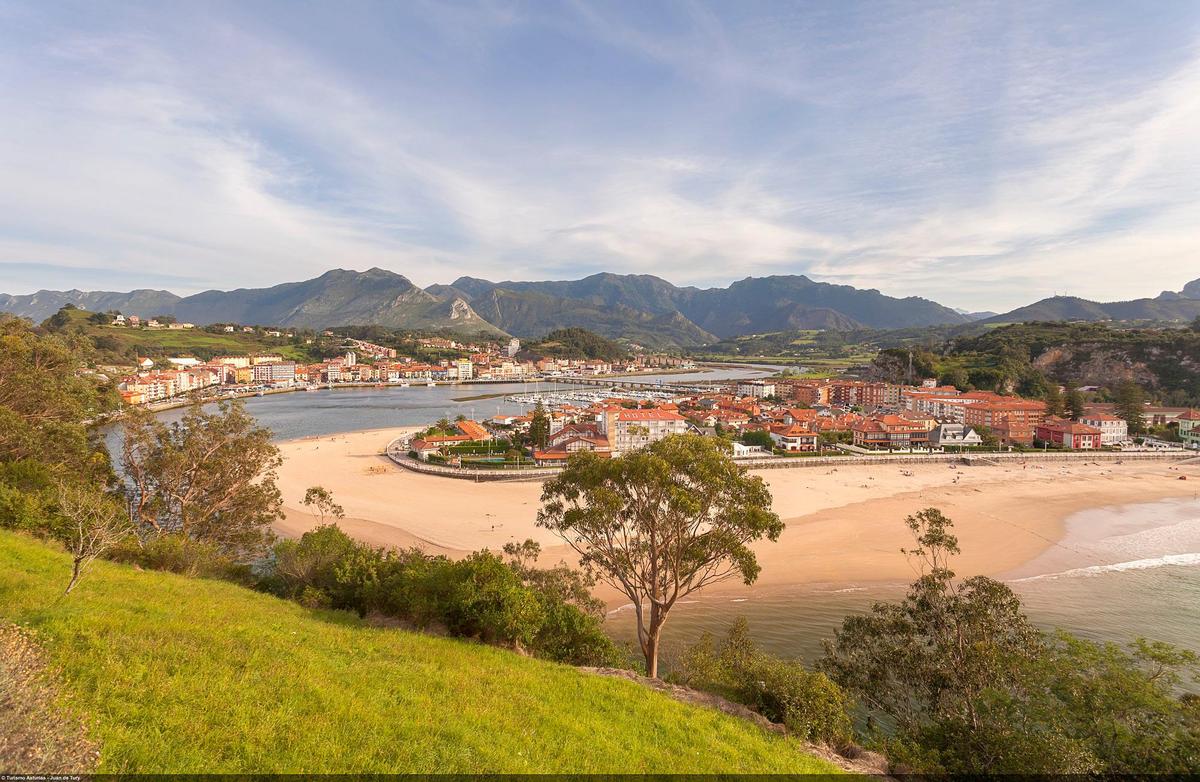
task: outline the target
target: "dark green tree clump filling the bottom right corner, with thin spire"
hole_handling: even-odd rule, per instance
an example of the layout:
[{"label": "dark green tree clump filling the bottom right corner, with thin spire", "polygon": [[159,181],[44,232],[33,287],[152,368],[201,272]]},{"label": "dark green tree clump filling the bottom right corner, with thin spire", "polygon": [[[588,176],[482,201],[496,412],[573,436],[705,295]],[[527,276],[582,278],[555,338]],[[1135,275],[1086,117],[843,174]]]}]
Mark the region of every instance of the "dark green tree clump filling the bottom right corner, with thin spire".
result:
[{"label": "dark green tree clump filling the bottom right corner, with thin spire", "polygon": [[[1004,584],[955,581],[952,523],[907,519],[919,578],[899,603],[848,616],[818,667],[866,708],[894,765],[922,774],[1200,769],[1200,710],[1177,685],[1196,656],[1034,630]],[[876,722],[881,720],[881,722]],[[892,729],[883,729],[883,726]]]}]

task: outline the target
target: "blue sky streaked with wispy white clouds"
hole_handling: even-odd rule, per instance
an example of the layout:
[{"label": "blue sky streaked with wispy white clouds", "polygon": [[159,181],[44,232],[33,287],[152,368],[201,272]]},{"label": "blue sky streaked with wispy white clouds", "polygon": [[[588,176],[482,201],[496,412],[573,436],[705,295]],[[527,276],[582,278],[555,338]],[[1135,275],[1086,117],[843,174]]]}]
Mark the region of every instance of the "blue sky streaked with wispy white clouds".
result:
[{"label": "blue sky streaked with wispy white clouds", "polygon": [[0,291],[1200,277],[1200,4],[0,0]]}]

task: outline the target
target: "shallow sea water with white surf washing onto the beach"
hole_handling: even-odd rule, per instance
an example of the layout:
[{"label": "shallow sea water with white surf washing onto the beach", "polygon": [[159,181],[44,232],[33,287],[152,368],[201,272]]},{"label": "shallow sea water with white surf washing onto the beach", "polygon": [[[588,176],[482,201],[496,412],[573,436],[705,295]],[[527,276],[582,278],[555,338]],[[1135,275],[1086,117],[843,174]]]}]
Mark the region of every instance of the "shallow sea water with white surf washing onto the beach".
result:
[{"label": "shallow sea water with white surf washing onto the beach", "polygon": [[[1037,625],[1093,640],[1144,637],[1200,652],[1200,498],[1086,510],[1064,527],[1062,541],[1000,576]],[[798,584],[700,595],[672,610],[664,656],[670,662],[704,631],[719,636],[744,616],[763,648],[812,662],[846,615],[899,600],[905,586]],[[620,639],[635,637],[628,606],[610,614],[608,626]]]}]

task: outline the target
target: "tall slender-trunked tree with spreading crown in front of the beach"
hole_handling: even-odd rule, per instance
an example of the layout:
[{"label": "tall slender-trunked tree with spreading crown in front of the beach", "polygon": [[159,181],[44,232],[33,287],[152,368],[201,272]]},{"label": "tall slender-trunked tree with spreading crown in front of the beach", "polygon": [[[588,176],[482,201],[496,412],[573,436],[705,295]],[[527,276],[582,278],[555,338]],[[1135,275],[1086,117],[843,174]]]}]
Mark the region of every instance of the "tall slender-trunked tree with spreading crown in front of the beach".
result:
[{"label": "tall slender-trunked tree with spreading crown in front of the beach", "polygon": [[659,673],[662,626],[686,595],[730,578],[751,584],[750,543],[784,523],[770,492],[710,438],[672,435],[614,459],[572,456],[542,491],[538,524],[581,566],[634,604],[647,675]]}]

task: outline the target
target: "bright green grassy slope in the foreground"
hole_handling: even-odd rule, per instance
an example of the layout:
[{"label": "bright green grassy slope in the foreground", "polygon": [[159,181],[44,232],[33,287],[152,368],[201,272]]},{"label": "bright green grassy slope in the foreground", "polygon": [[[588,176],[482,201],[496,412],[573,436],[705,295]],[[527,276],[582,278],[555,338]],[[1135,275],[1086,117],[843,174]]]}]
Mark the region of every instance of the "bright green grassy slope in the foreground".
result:
[{"label": "bright green grassy slope in the foreground", "polygon": [[371,627],[0,531],[0,621],[36,633],[124,772],[826,772],[802,745],[629,681]]}]

